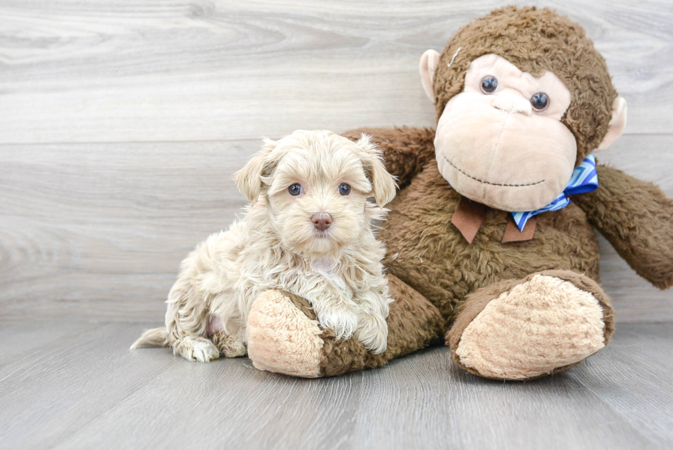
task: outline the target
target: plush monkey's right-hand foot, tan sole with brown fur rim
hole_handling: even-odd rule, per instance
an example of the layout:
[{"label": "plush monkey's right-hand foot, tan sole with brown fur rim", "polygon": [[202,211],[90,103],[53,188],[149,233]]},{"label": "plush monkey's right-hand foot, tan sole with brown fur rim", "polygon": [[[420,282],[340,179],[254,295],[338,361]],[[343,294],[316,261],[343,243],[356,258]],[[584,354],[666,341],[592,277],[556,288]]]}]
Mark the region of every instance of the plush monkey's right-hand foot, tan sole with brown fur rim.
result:
[{"label": "plush monkey's right-hand foot, tan sole with brown fur rim", "polygon": [[524,380],[580,363],[613,332],[613,308],[598,284],[572,271],[544,271],[468,295],[446,340],[461,368]]}]

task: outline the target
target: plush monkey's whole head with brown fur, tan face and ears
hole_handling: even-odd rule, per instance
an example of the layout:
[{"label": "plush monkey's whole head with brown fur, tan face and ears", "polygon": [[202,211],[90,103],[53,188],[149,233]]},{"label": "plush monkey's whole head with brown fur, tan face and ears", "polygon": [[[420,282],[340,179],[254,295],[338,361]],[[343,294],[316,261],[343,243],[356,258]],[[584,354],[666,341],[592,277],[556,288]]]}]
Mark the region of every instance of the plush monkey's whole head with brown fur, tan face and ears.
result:
[{"label": "plush monkey's whole head with brown fur, tan face and ears", "polygon": [[507,7],[461,28],[420,61],[437,108],[437,166],[468,199],[538,210],[586,155],[624,131],[603,57],[582,27],[547,8]]}]

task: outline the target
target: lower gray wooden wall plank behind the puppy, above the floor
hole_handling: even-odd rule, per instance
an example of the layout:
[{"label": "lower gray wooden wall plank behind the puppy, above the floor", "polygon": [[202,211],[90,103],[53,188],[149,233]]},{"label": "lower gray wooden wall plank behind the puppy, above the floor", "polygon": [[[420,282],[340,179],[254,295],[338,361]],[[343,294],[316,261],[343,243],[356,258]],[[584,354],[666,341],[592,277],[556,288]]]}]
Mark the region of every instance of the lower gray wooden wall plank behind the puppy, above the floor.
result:
[{"label": "lower gray wooden wall plank behind the puppy, above the floor", "polygon": [[[258,141],[0,145],[0,317],[160,320],[180,261],[226,228]],[[629,135],[600,161],[673,196],[673,137]],[[601,239],[620,322],[673,320],[673,291]]]}]

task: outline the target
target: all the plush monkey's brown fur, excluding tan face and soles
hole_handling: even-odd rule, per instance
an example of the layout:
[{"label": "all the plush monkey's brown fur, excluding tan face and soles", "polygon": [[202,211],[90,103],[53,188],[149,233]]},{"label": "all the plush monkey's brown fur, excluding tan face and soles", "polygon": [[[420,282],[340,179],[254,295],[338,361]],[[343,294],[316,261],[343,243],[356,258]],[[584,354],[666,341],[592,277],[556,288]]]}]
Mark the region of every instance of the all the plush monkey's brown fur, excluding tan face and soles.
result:
[{"label": "all the plush monkey's brown fur, excluding tan face and soles", "polygon": [[[580,25],[547,9],[503,8],[459,30],[446,45],[434,78],[437,117],[448,100],[463,91],[471,61],[490,53],[534,75],[552,71],[564,82],[572,101],[562,122],[577,140],[575,165],[599,146],[617,97],[605,61]],[[465,367],[455,353],[464,330],[486,304],[535,274],[554,276],[591,293],[602,309],[607,344],[614,314],[597,284],[599,249],[593,227],[654,286],[665,289],[673,284],[673,201],[651,183],[598,166],[598,189],[573,196],[573,203],[562,210],[538,215],[532,240],[501,243],[509,213],[490,209],[468,244],[450,222],[461,196],[437,169],[434,131],[361,129],[345,136],[358,139],[362,132],[373,136],[387,170],[399,178],[400,192],[388,206],[391,212],[379,235],[387,243],[385,265],[396,302],[390,305],[388,351],[383,355],[369,355],[354,339],[335,341],[324,331],[323,375],[383,365],[449,329],[446,343],[455,361],[479,373]],[[293,302],[312,317],[304,300]]]}]

